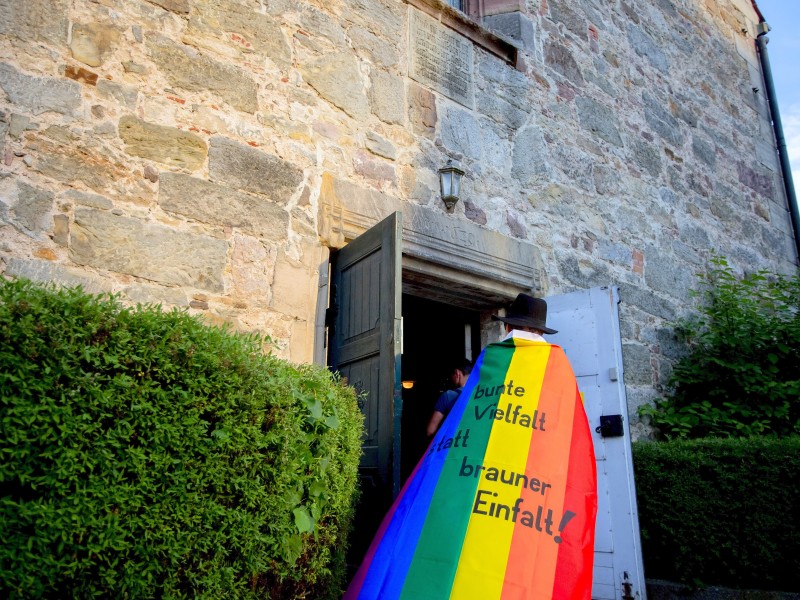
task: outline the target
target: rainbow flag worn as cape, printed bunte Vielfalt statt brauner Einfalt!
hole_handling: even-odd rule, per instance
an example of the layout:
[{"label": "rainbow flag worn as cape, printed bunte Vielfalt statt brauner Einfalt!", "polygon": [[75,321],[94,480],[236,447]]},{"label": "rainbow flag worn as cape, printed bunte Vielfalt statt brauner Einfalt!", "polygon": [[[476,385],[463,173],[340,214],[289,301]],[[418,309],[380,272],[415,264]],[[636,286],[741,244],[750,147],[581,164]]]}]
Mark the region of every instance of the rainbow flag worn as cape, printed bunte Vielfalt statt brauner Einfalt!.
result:
[{"label": "rainbow flag worn as cape, printed bunte Vielfalt statt brauner Einfalt!", "polygon": [[345,600],[591,598],[597,475],[566,355],[481,353]]}]

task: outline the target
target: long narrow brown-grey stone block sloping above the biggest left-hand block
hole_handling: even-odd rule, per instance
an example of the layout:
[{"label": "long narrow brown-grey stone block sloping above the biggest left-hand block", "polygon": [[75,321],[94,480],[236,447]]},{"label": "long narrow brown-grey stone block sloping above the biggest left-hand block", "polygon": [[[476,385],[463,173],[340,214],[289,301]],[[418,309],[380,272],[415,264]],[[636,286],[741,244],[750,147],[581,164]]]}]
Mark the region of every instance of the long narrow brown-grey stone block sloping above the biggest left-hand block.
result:
[{"label": "long narrow brown-grey stone block sloping above the biggest left-hand block", "polygon": [[252,196],[179,173],[161,173],[158,203],[202,223],[236,227],[271,241],[287,238],[289,214],[263,196]]}]

